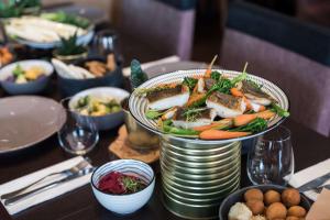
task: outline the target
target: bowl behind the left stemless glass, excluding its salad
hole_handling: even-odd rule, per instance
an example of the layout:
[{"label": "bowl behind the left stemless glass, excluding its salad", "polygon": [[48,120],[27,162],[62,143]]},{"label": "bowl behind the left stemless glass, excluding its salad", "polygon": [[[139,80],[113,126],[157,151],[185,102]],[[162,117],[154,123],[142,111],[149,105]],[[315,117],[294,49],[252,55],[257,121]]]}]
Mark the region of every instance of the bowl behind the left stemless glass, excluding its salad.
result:
[{"label": "bowl behind the left stemless glass, excluding its salad", "polygon": [[[84,91],[80,91],[76,94],[69,101],[68,106],[70,110],[75,110],[75,107],[77,106],[78,100],[81,97],[85,96],[91,96],[96,98],[113,98],[117,100],[118,103],[120,103],[123,99],[130,96],[130,94],[123,89],[114,88],[114,87],[98,87],[92,89],[87,89]],[[89,116],[87,116],[89,117]],[[123,111],[109,113],[101,117],[90,117],[94,122],[96,123],[96,127],[98,130],[108,130],[113,129],[121,123],[123,123]]]}]

